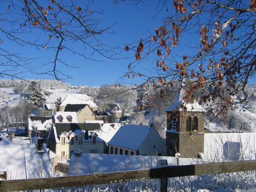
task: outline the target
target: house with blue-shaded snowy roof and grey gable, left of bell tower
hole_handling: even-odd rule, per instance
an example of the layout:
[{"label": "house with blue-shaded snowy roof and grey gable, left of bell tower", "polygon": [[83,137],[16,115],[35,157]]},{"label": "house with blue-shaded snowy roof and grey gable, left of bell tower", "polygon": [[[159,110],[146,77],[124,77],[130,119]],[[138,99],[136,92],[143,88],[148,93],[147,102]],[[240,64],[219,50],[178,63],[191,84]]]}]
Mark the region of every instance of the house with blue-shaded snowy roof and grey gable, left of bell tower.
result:
[{"label": "house with blue-shaded snowy roof and grey gable, left of bell tower", "polygon": [[165,156],[165,144],[153,124],[124,124],[108,144],[110,154]]}]

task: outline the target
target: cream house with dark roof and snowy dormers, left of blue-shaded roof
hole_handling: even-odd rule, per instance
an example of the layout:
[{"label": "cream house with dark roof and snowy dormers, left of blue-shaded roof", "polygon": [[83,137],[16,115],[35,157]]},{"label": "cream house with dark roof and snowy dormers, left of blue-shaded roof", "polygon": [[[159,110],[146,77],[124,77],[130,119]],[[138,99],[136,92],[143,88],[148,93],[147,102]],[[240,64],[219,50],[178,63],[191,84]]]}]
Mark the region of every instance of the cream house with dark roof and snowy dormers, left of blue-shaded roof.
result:
[{"label": "cream house with dark roof and snowy dormers, left of blue-shaded roof", "polygon": [[75,150],[106,153],[108,146],[95,133],[99,123],[55,123],[48,137],[48,148],[59,160],[67,160]]}]

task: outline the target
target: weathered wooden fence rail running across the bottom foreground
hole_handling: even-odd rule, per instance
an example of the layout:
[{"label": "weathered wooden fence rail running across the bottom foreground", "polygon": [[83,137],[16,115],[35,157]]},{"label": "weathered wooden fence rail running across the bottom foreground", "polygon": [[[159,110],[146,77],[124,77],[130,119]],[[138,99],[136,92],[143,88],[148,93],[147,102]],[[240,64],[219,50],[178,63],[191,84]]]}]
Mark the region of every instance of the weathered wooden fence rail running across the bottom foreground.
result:
[{"label": "weathered wooden fence rail running across the bottom foreground", "polygon": [[53,177],[27,180],[0,180],[0,192],[100,185],[135,180],[223,174],[256,170],[256,160],[196,165],[166,166],[105,174]]}]

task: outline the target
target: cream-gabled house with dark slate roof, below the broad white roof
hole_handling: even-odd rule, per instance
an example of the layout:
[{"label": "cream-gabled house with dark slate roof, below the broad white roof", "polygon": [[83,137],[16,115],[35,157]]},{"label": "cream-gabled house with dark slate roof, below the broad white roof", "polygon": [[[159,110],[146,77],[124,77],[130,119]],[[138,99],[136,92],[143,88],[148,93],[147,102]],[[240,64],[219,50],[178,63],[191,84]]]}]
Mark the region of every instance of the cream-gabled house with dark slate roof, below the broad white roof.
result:
[{"label": "cream-gabled house with dark slate roof, below the broad white roof", "polygon": [[64,112],[76,112],[77,122],[84,123],[86,120],[96,119],[96,115],[88,104],[67,104]]}]

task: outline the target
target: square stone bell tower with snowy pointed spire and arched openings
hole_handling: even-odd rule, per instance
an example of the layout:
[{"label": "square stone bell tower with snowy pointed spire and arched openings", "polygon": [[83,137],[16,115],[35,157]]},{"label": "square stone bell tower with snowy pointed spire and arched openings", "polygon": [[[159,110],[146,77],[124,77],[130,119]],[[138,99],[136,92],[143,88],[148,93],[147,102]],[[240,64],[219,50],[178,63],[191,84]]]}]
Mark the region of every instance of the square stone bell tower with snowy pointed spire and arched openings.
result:
[{"label": "square stone bell tower with snowy pointed spire and arched openings", "polygon": [[188,79],[183,78],[175,102],[167,113],[166,154],[183,158],[197,158],[204,153],[204,112],[198,102],[185,99]]}]

